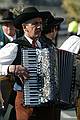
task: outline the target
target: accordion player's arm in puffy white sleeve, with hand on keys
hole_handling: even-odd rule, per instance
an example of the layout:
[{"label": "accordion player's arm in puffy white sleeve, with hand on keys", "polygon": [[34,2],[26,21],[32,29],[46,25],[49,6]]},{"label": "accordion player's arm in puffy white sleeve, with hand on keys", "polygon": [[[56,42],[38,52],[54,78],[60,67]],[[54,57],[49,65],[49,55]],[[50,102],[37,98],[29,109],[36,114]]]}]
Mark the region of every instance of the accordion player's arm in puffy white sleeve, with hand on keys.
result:
[{"label": "accordion player's arm in puffy white sleeve, with hand on keys", "polygon": [[8,43],[0,49],[0,73],[2,75],[14,74],[23,82],[27,79],[28,71],[22,65],[11,65],[17,56],[18,44]]}]

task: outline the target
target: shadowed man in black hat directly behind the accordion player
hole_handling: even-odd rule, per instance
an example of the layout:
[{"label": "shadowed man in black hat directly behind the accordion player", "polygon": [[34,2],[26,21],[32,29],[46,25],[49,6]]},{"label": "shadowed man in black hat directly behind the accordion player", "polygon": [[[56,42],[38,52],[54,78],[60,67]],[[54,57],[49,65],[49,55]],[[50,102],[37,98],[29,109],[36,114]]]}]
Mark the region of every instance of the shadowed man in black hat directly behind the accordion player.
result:
[{"label": "shadowed man in black hat directly behind the accordion player", "polygon": [[60,24],[63,22],[61,17],[53,17],[53,15],[48,12],[49,18],[44,19],[43,21],[43,30],[42,30],[42,41],[45,39],[46,47],[50,45],[57,46],[56,36],[60,28]]}]

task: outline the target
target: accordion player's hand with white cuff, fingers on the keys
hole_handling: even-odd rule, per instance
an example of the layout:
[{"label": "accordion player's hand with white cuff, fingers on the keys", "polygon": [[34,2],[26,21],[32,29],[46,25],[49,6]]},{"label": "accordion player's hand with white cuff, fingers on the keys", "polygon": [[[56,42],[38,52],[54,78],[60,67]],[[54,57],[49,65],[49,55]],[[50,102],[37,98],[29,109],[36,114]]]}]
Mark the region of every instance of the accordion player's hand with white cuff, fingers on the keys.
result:
[{"label": "accordion player's hand with white cuff, fingers on the keys", "polygon": [[28,70],[22,65],[10,65],[9,72],[18,76],[22,83],[29,77]]}]

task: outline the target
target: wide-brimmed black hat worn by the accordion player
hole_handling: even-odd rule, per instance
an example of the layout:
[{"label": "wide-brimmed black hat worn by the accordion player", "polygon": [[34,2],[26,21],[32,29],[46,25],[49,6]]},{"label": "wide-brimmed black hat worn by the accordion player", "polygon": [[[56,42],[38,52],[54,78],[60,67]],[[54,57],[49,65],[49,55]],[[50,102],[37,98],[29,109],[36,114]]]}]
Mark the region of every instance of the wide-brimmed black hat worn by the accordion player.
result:
[{"label": "wide-brimmed black hat worn by the accordion player", "polygon": [[40,12],[35,7],[24,8],[22,13],[18,15],[15,19],[15,25],[18,28],[19,25],[25,23],[26,21],[33,19],[35,17],[44,18],[47,16],[46,12]]}]

